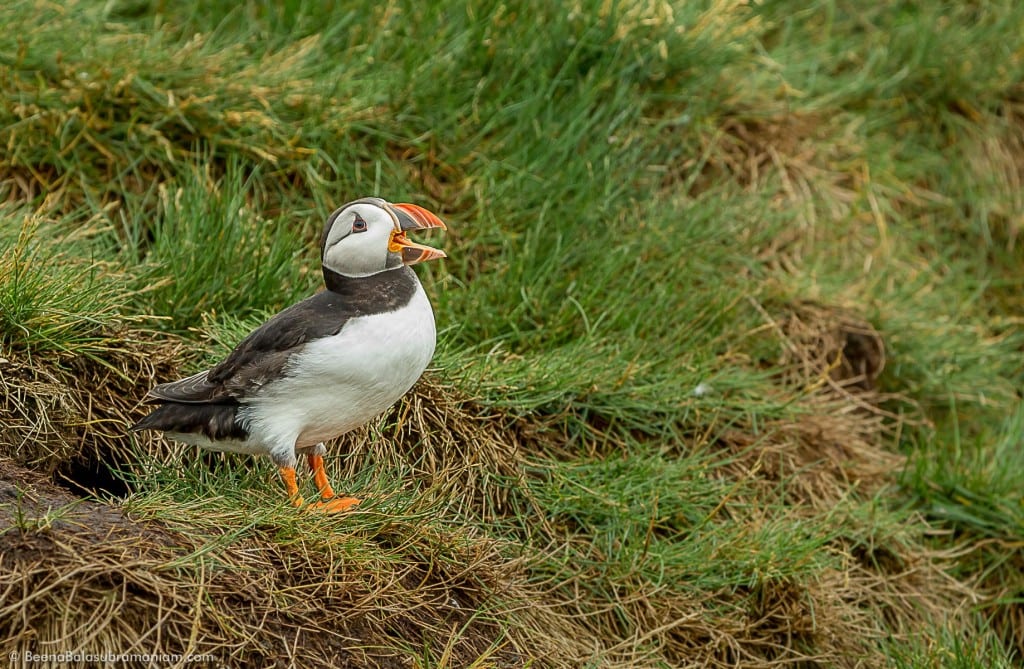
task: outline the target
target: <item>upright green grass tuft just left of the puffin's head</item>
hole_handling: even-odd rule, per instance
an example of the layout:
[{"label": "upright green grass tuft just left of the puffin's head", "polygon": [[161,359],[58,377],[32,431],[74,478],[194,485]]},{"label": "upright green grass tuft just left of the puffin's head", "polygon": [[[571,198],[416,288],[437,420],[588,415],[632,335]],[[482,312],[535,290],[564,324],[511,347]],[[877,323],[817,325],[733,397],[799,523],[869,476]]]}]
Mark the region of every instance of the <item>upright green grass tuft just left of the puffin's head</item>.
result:
[{"label": "upright green grass tuft just left of the puffin's head", "polygon": [[317,256],[304,248],[308,231],[250,208],[259,199],[258,172],[246,178],[241,164],[229,162],[214,179],[201,169],[161,184],[121,215],[117,251],[135,267],[138,308],[181,331],[203,315],[280,309],[312,292],[318,273],[300,271]]}]

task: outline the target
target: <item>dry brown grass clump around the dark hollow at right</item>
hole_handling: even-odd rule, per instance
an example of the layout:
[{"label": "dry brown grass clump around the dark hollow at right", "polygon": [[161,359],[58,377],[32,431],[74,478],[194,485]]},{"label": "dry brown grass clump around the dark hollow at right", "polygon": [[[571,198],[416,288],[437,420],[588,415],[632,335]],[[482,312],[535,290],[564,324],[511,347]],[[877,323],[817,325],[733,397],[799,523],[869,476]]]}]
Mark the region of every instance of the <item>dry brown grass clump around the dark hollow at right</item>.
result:
[{"label": "dry brown grass clump around the dark hollow at right", "polygon": [[771,315],[754,302],[781,346],[777,382],[800,393],[800,419],[755,434],[730,430],[723,442],[740,454],[735,475],[769,487],[785,482],[786,504],[824,511],[855,492],[871,496],[893,483],[904,457],[888,448],[905,416],[883,408],[877,387],[886,348],[878,330],[848,307],[805,301]]}]

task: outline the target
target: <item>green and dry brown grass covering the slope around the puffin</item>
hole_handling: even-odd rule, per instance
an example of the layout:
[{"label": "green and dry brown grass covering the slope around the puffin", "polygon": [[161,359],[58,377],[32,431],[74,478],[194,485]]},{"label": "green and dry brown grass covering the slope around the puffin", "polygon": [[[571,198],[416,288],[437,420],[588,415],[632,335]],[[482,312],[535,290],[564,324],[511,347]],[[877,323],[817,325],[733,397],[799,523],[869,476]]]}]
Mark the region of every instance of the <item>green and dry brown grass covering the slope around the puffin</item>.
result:
[{"label": "green and dry brown grass covering the slope around the puffin", "polygon": [[[145,641],[167,595],[158,650],[228,664],[1020,661],[1024,9],[0,23],[0,449],[113,466],[141,566],[61,590],[106,548],[19,502],[43,567],[0,550],[0,575],[71,617],[132,583],[102,643]],[[266,462],[130,442],[153,382],[318,288],[322,221],[366,195],[436,211],[450,257],[420,273],[436,369],[333,449],[361,510],[296,516]],[[4,647],[34,601],[0,608]]]}]

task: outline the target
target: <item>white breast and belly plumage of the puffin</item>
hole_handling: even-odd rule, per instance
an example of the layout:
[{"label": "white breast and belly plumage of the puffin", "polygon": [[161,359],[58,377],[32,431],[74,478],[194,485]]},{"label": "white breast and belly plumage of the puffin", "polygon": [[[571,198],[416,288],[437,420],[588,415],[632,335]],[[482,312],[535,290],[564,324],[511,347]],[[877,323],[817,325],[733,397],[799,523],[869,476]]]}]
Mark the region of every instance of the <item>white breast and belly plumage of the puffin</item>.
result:
[{"label": "white breast and belly plumage of the puffin", "polygon": [[385,411],[416,383],[434,353],[430,302],[417,285],[400,309],[352,319],[306,344],[240,417],[250,442],[271,452],[334,438]]}]

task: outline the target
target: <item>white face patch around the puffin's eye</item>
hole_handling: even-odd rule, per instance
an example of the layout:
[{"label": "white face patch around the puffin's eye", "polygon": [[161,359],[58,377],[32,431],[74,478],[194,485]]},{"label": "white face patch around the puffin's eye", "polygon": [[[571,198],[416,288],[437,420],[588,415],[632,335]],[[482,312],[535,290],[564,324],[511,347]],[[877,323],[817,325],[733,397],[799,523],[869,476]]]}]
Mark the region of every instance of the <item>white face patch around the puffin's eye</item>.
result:
[{"label": "white face patch around the puffin's eye", "polygon": [[388,250],[394,229],[394,218],[381,207],[359,203],[346,208],[328,232],[324,266],[345,277],[369,277],[401,264]]}]

